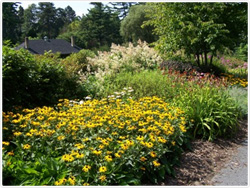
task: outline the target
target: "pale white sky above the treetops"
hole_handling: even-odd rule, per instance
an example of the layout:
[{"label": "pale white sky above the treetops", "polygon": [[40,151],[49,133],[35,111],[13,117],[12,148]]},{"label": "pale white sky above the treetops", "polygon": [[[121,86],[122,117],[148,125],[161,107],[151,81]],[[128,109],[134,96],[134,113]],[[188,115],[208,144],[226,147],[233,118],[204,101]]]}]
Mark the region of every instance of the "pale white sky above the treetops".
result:
[{"label": "pale white sky above the treetops", "polygon": [[[32,3],[35,3],[38,5],[39,1],[18,1],[21,2],[21,6],[26,9],[28,6]],[[91,1],[50,1],[51,3],[54,3],[56,8],[65,8],[68,5],[71,6],[71,8],[76,12],[77,16],[82,16],[82,14],[87,14],[88,9],[93,8],[93,5],[90,5]]]}]

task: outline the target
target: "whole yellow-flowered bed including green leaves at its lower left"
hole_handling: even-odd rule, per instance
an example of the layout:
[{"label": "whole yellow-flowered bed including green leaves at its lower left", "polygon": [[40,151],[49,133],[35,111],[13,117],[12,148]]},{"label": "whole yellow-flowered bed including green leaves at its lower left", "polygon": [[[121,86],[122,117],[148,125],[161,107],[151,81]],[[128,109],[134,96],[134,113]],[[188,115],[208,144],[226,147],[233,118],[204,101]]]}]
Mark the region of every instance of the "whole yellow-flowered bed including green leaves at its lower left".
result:
[{"label": "whole yellow-flowered bed including green leaves at its lower left", "polygon": [[183,111],[158,97],[64,99],[3,113],[3,122],[4,184],[12,185],[156,183],[171,173],[186,132]]}]

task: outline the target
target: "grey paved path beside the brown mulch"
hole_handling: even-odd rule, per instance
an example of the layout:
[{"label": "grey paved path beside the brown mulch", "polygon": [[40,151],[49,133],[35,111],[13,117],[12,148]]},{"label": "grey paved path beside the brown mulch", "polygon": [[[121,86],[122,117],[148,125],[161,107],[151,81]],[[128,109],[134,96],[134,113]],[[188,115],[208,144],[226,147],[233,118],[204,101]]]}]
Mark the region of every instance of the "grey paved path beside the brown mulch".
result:
[{"label": "grey paved path beside the brown mulch", "polygon": [[212,178],[216,186],[247,186],[248,185],[248,140],[237,149],[235,155]]}]

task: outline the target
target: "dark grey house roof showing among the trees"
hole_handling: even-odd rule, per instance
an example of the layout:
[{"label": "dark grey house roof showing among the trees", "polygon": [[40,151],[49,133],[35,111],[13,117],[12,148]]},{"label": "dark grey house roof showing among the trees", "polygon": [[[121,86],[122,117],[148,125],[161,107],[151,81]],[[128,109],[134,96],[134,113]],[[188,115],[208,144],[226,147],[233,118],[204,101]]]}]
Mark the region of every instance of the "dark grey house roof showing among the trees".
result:
[{"label": "dark grey house roof showing among the trees", "polygon": [[[20,44],[16,49],[25,48],[25,42]],[[62,55],[77,53],[81,50],[78,46],[71,46],[71,43],[63,39],[48,40],[29,40],[28,48],[33,54],[44,54],[45,51],[51,50],[52,53],[60,52]]]}]

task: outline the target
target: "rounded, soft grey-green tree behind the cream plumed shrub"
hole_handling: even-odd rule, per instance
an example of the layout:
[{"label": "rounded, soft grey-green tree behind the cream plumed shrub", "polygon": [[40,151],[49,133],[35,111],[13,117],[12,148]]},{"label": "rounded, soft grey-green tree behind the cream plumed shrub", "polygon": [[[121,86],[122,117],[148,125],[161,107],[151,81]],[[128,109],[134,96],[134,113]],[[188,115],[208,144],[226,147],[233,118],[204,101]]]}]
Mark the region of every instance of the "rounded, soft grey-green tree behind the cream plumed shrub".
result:
[{"label": "rounded, soft grey-green tree behind the cream plumed shrub", "polygon": [[148,43],[155,42],[157,37],[153,34],[153,27],[148,25],[142,28],[146,18],[145,10],[148,5],[135,5],[129,10],[129,14],[122,20],[120,32],[126,42],[136,43],[139,39]]}]

